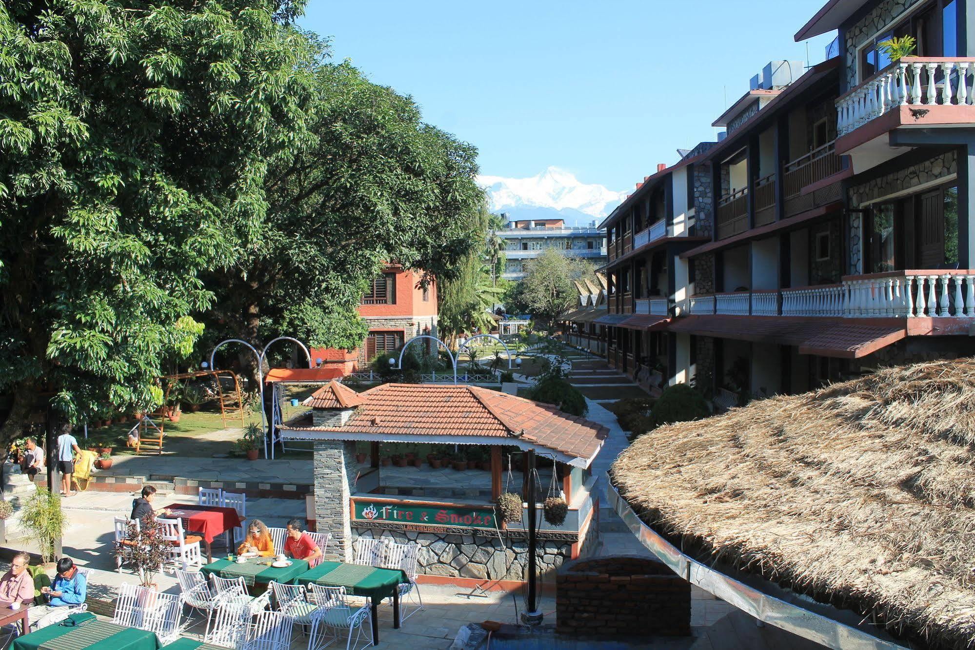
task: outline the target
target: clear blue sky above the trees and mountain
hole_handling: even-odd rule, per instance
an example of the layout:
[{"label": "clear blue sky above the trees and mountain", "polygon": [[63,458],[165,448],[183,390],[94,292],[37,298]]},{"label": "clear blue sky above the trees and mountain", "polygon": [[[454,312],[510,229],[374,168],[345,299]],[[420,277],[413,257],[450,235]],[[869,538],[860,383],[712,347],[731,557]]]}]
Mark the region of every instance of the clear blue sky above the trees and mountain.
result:
[{"label": "clear blue sky above the trees and mountain", "polygon": [[[625,190],[713,139],[766,62],[806,61],[793,34],[824,2],[309,0],[301,24],[475,144],[483,174],[555,165]],[[809,40],[808,61],[833,36]]]}]

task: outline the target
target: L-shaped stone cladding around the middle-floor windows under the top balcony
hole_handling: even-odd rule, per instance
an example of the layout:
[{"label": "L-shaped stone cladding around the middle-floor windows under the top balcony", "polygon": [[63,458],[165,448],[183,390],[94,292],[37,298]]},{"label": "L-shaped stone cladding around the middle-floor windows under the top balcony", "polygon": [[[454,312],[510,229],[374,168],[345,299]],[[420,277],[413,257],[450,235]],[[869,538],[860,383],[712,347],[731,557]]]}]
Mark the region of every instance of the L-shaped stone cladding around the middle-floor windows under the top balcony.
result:
[{"label": "L-shaped stone cladding around the middle-floor windows under the top balcony", "polygon": [[[860,208],[867,203],[899,192],[908,191],[924,183],[933,183],[948,179],[958,171],[958,156],[956,151],[948,151],[928,160],[910,165],[896,172],[878,177],[867,183],[860,183],[849,188],[849,207]],[[850,213],[850,259],[849,272],[863,273],[863,220],[860,213]]]}]

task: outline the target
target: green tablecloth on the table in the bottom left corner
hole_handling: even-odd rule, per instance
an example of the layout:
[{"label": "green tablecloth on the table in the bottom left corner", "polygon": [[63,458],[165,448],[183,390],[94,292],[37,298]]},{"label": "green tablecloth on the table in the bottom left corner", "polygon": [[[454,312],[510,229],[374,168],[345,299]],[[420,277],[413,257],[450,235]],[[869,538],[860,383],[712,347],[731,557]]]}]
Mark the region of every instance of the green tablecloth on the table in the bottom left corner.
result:
[{"label": "green tablecloth on the table in the bottom left corner", "polygon": [[73,627],[56,624],[14,639],[14,650],[158,650],[153,632],[98,621],[83,612],[67,618]]}]

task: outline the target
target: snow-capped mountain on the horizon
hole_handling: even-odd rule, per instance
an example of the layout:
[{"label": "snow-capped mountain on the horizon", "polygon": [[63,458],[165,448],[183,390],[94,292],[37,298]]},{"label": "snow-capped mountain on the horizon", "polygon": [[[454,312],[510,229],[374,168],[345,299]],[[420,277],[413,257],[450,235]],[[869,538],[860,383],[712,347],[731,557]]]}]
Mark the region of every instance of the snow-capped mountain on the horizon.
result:
[{"label": "snow-capped mountain on the horizon", "polygon": [[479,176],[478,183],[487,189],[491,212],[506,212],[512,220],[561,218],[567,225],[602,220],[626,196],[581,183],[558,167],[527,179]]}]

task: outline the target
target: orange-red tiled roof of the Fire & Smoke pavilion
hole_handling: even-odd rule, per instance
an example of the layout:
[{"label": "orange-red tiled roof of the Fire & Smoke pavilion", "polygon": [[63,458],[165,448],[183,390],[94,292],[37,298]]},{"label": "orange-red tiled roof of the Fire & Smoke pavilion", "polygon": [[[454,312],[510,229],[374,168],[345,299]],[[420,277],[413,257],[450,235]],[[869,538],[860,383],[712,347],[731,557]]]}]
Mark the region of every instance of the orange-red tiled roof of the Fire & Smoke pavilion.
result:
[{"label": "orange-red tiled roof of the Fire & Smoke pavilion", "polygon": [[388,437],[519,438],[587,461],[599,452],[609,430],[554,406],[479,386],[383,384],[358,396],[363,405],[342,427],[306,426],[307,417],[285,427]]}]

